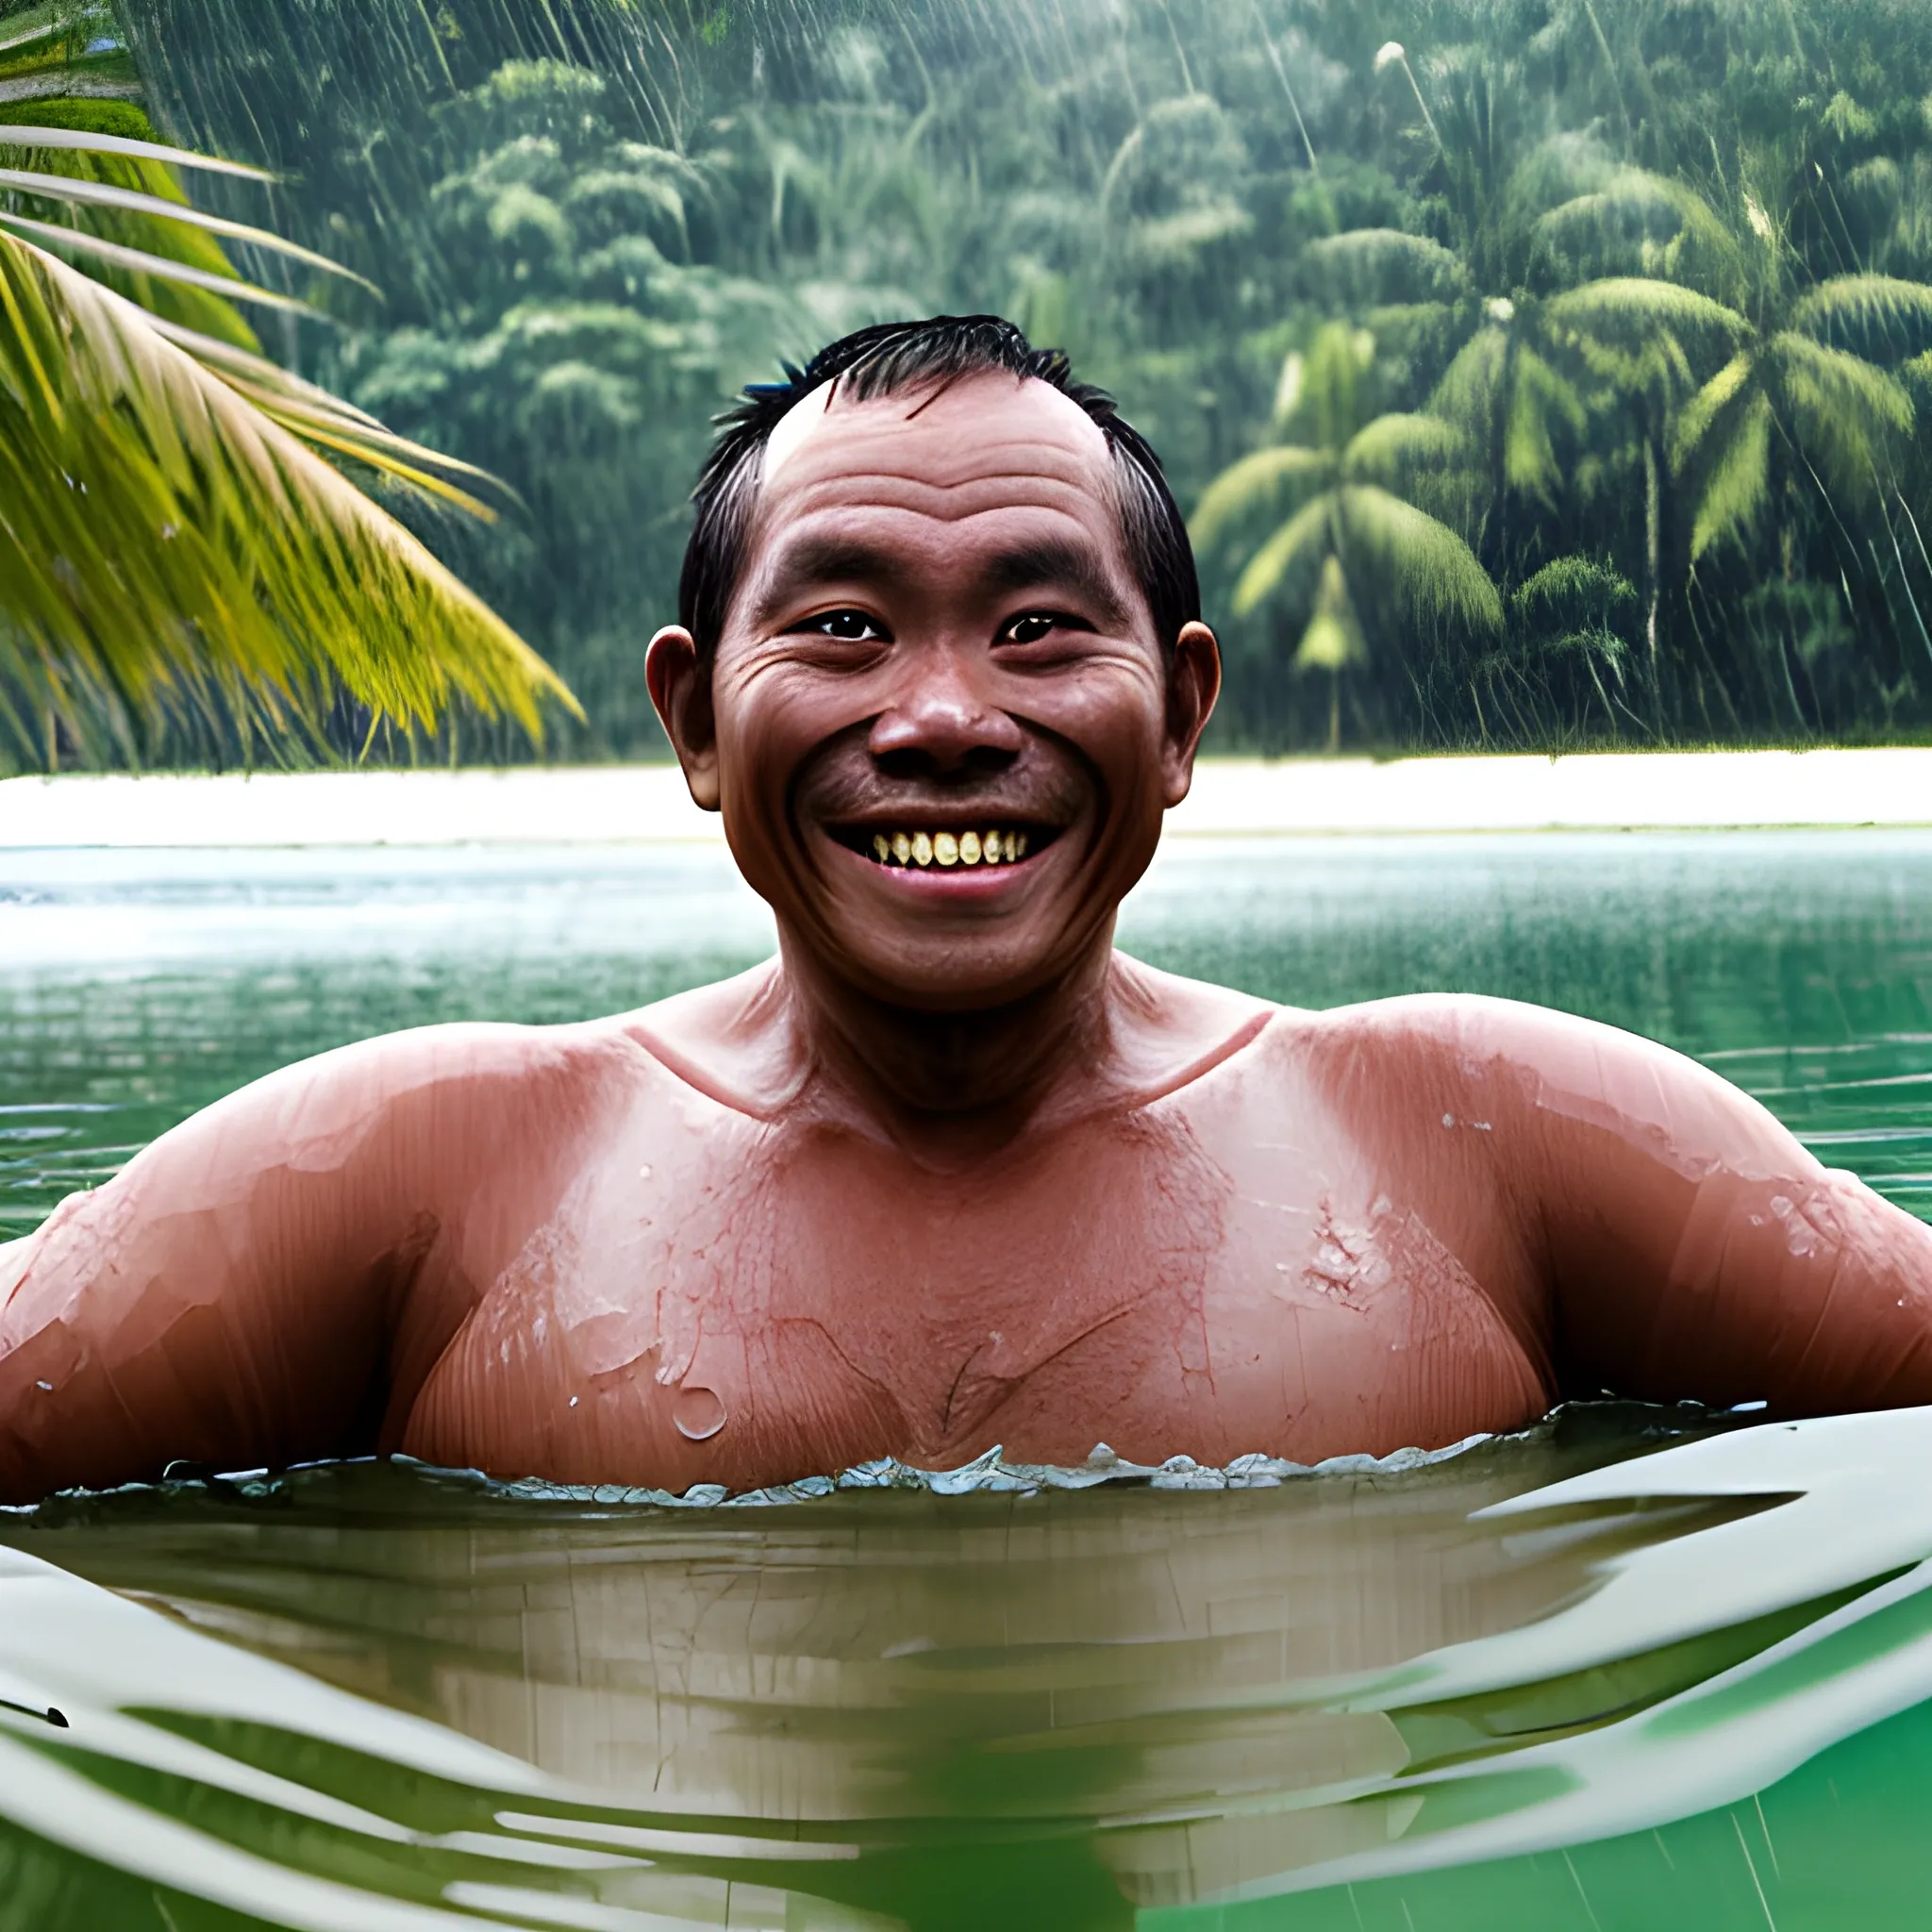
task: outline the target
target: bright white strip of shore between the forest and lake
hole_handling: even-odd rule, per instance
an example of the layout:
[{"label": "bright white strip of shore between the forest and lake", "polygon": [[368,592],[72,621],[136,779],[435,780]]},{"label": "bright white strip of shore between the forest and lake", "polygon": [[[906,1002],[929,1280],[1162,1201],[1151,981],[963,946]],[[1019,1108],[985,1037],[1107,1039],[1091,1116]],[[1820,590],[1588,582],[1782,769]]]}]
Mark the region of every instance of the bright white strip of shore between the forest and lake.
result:
[{"label": "bright white strip of shore between the forest and lake", "polygon": [[[1932,827],[1932,748],[1202,759],[1169,838]],[[719,844],[676,765],[0,779],[0,850]]]}]

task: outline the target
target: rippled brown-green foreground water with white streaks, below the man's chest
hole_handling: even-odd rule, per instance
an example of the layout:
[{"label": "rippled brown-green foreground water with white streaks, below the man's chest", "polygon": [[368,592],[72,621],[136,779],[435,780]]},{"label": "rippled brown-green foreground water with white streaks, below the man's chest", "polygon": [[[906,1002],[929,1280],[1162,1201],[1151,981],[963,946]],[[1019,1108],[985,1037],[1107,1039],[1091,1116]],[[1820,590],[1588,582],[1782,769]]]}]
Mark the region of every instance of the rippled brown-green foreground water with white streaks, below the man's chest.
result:
[{"label": "rippled brown-green foreground water with white streaks, below the man's chest", "polygon": [[[0,1694],[68,1719],[0,1714],[12,1895],[75,1926],[1528,1932],[1677,1913],[1673,1847],[1743,1816],[1783,1849],[1739,1835],[1671,1922],[1750,1924],[1752,1886],[1820,1878],[1779,1779],[1932,1694],[1932,1412],[1714,1420],[1217,1493],[678,1511],[348,1464],[60,1499],[0,1555]],[[1551,1847],[1567,1907],[1497,1909]]]}]

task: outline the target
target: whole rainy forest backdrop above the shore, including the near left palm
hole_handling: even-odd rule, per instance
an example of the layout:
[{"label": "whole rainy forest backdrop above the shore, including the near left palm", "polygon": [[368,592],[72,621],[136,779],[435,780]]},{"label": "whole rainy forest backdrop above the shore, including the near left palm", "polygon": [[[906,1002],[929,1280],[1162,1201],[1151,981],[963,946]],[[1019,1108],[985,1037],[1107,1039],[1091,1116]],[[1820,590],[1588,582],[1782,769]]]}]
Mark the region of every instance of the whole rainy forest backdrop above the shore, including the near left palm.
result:
[{"label": "whole rainy forest backdrop above the shore, including the near left palm", "polygon": [[0,0],[0,771],[655,757],[713,417],[974,311],[1223,752],[1932,736],[1922,0]]}]

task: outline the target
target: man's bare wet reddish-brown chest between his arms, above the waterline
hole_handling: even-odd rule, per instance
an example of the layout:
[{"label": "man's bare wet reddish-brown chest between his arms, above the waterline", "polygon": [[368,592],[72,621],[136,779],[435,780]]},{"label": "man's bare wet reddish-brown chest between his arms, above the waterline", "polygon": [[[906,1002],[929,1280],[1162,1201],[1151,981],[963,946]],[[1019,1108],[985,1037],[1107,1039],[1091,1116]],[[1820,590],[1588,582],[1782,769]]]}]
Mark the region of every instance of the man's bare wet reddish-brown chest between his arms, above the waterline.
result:
[{"label": "man's bare wet reddish-brown chest between his arms, above the waterline", "polygon": [[1455,1439],[1542,1391],[1360,1148],[1140,1109],[937,1169],[831,1130],[585,1175],[410,1428],[498,1472],[750,1486]]}]

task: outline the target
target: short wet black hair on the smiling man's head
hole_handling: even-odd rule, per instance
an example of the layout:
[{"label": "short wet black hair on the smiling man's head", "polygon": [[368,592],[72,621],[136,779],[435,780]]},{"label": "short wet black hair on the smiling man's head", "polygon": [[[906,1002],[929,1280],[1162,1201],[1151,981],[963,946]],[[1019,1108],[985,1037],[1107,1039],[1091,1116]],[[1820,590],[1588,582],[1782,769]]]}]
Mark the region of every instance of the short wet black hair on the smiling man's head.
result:
[{"label": "short wet black hair on the smiling man's head", "polygon": [[1036,350],[999,315],[933,315],[920,323],[875,323],[819,350],[804,369],[784,363],[782,383],[750,383],[742,400],[717,417],[692,504],[697,510],[678,578],[678,622],[709,668],[724,614],[744,572],[746,541],[765,444],[784,415],[821,383],[837,383],[852,402],[918,388],[947,388],[962,377],[1007,371],[1057,388],[1086,410],[1113,450],[1121,533],[1163,651],[1180,626],[1200,616],[1200,580],[1188,526],[1161,475],[1161,460],[1103,388],[1074,381],[1063,350]]}]

